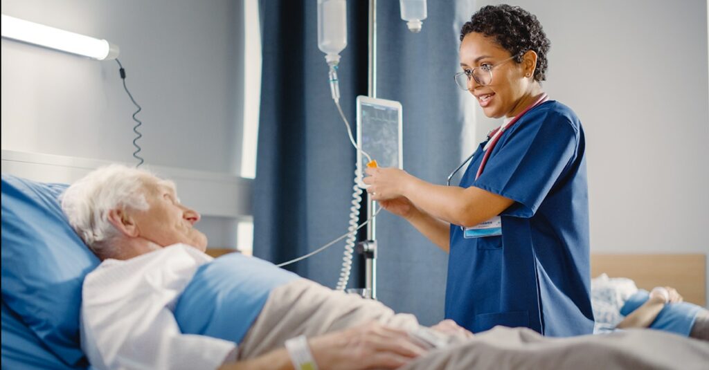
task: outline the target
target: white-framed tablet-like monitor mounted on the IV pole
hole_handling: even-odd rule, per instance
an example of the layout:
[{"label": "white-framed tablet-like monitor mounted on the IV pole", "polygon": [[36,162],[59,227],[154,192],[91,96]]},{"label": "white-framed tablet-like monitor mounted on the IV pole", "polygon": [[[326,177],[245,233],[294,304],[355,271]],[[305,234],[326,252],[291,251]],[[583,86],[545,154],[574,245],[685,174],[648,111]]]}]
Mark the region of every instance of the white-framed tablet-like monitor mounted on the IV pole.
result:
[{"label": "white-framed tablet-like monitor mounted on the IV pole", "polygon": [[[362,179],[369,162],[362,152],[376,161],[377,167],[403,169],[401,103],[393,100],[357,96],[357,179]],[[362,186],[361,181],[357,181]]]}]

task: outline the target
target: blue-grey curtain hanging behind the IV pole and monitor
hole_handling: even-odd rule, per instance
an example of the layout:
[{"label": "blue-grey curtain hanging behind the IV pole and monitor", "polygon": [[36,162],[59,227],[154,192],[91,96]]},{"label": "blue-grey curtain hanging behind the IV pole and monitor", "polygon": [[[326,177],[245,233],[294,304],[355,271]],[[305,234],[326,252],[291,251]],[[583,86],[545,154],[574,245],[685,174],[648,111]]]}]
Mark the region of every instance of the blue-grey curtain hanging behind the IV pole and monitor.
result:
[{"label": "blue-grey curtain hanging behind the IV pole and monitor", "polygon": [[[369,1],[347,1],[347,47],[339,77],[345,115],[354,124],[357,95],[367,94]],[[378,1],[377,97],[403,106],[404,169],[445,184],[459,164],[462,130],[454,1],[429,1],[414,34],[398,1]],[[354,148],[330,99],[328,67],[318,50],[317,1],[262,1],[263,79],[254,192],[254,254],[283,262],[347,230]],[[386,211],[376,223],[377,294],[424,324],[443,317],[447,254]],[[334,287],[344,242],[289,269]],[[356,263],[350,286],[362,286]]]}]

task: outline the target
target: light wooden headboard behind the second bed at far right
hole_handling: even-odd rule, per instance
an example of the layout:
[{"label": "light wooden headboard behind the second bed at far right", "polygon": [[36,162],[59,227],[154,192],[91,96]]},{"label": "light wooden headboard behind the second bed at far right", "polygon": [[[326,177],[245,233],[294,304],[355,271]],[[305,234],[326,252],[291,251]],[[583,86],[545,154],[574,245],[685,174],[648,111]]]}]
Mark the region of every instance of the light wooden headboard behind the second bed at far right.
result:
[{"label": "light wooden headboard behind the second bed at far right", "polygon": [[705,254],[591,254],[591,276],[604,272],[632,279],[648,291],[671,286],[685,301],[706,305]]}]

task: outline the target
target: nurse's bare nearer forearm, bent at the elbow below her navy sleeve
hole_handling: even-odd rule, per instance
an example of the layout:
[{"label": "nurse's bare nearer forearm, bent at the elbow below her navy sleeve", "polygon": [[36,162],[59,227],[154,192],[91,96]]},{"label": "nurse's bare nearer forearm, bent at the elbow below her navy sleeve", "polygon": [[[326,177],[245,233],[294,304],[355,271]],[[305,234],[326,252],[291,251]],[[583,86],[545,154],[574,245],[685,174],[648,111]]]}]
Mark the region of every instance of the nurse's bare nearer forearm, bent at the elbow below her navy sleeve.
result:
[{"label": "nurse's bare nearer forearm, bent at the elbow below her navy sleeve", "polygon": [[514,201],[471,186],[430,184],[411,176],[401,189],[421,211],[447,223],[470,227],[505,211]]}]

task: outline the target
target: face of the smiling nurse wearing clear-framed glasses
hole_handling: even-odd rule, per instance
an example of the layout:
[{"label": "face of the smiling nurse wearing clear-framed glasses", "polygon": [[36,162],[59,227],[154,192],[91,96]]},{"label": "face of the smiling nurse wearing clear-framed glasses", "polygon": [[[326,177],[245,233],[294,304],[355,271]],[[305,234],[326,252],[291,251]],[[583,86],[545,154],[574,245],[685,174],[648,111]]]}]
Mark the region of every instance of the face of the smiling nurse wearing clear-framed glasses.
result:
[{"label": "face of the smiling nurse wearing clear-framed glasses", "polygon": [[[463,71],[492,67],[490,84],[483,86],[472,78],[468,82],[468,91],[475,96],[485,116],[513,117],[526,108],[522,106],[523,98],[530,91],[533,79],[525,75],[530,73],[525,71],[525,61],[508,60],[511,56],[510,52],[482,33],[468,33],[463,38],[460,45],[460,67]],[[482,72],[481,69],[477,72]]]}]

